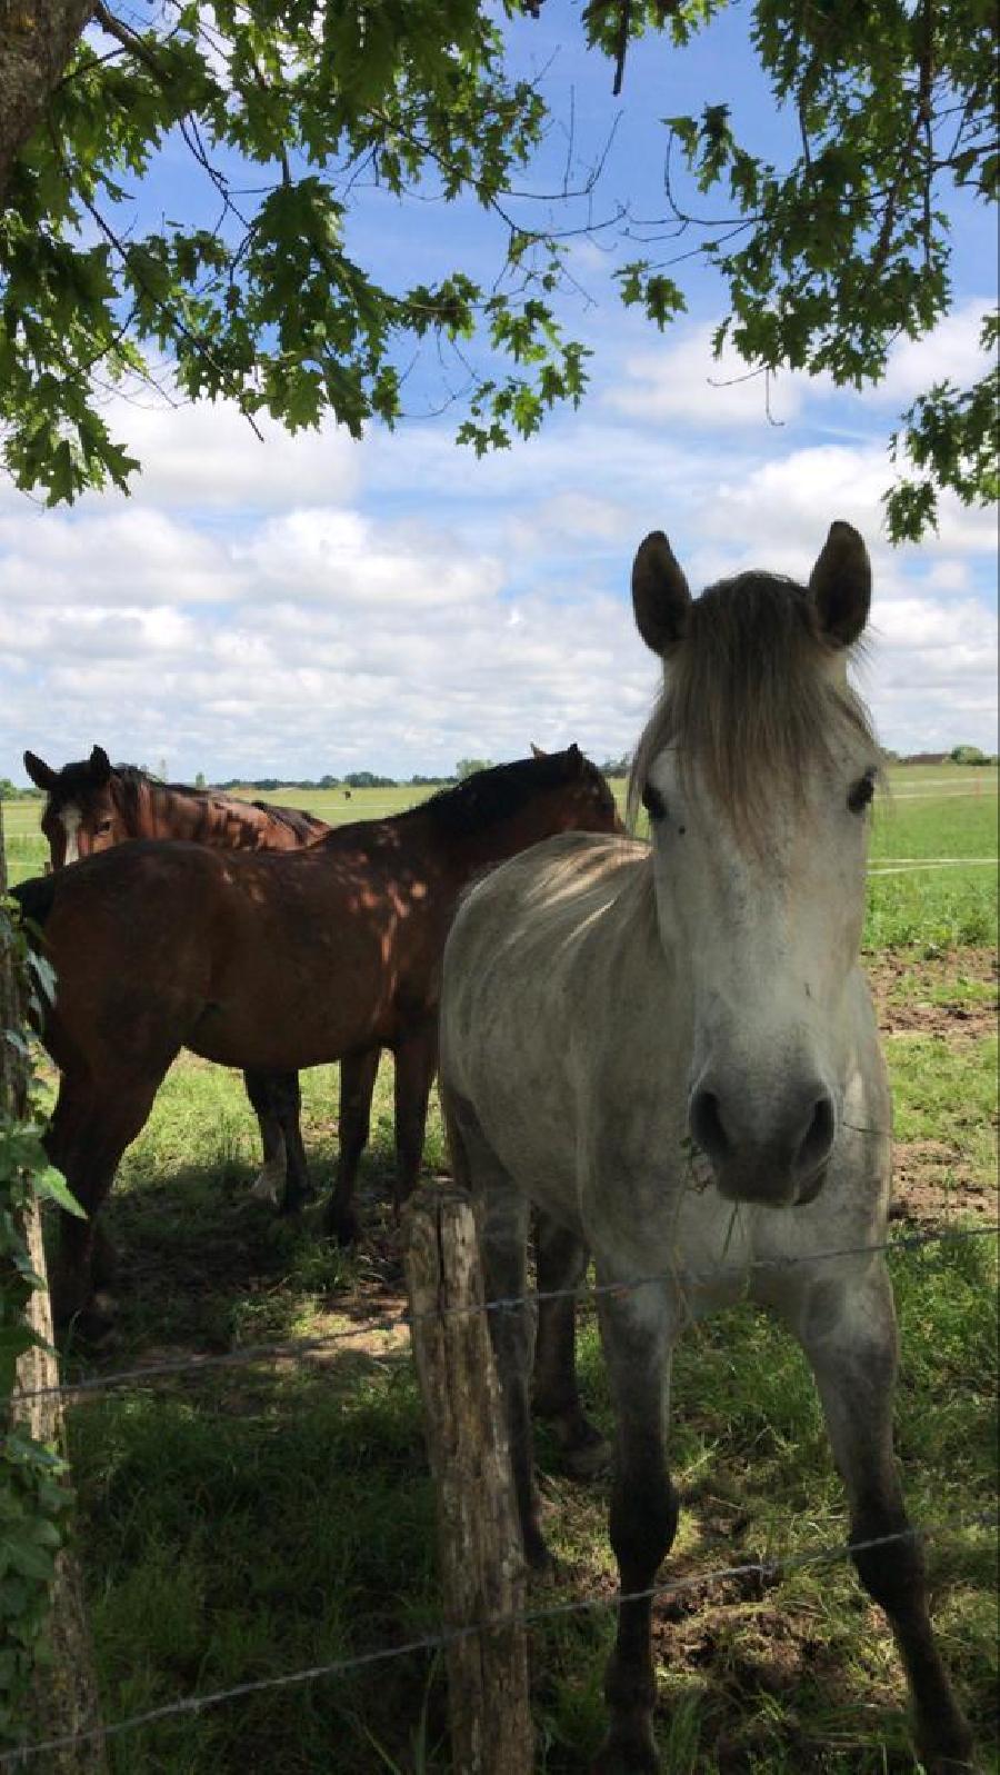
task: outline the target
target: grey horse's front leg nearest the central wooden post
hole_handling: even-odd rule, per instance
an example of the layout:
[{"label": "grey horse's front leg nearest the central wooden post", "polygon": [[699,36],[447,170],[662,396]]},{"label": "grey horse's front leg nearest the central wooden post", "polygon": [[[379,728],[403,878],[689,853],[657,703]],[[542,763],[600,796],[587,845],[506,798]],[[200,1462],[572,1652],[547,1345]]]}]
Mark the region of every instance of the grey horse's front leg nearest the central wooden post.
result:
[{"label": "grey horse's front leg nearest the central wooden post", "polygon": [[[599,1301],[601,1340],[615,1402],[612,1546],[619,1566],[619,1628],[605,1674],[608,1736],[594,1775],[654,1775],[656,1676],[651,1651],[652,1587],[677,1532],[677,1493],[667,1470],[670,1317],[652,1289]],[[635,1596],[635,1592],[640,1592]],[[626,1598],[635,1596],[635,1601]]]}]

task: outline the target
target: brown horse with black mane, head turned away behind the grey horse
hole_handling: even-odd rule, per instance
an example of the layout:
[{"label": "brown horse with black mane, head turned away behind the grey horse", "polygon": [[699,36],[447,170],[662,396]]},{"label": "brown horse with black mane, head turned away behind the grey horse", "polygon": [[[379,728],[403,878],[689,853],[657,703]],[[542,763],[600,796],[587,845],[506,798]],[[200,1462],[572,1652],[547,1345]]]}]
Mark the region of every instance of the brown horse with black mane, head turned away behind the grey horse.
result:
[{"label": "brown horse with black mane, head turned away behind the grey horse", "polygon": [[[355,1232],[379,1047],[395,1056],[395,1200],[410,1195],[436,1067],[441,950],[461,889],[564,831],[619,829],[576,746],[498,765],[387,820],[291,852],[135,843],[14,889],[44,928],[57,996],[44,1044],[62,1081],[46,1136],[89,1219],[64,1218],[60,1317],[92,1292],[94,1219],[181,1047],[291,1072],[340,1060],[328,1227]],[[41,939],[39,939],[41,941]]]}]

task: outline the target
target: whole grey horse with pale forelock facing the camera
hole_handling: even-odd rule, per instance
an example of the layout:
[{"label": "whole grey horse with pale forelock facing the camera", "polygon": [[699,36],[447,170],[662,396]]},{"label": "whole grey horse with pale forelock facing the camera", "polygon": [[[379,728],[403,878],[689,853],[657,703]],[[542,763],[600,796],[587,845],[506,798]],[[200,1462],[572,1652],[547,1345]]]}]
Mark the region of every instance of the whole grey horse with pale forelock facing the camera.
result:
[{"label": "whole grey horse with pale forelock facing the camera", "polygon": [[[589,1251],[608,1290],[621,1599],[594,1770],[660,1768],[649,1592],[677,1526],[670,1358],[686,1324],[748,1296],[812,1365],[851,1541],[904,1535],[855,1562],[902,1654],[924,1766],[943,1775],[970,1766],[970,1734],[894,1466],[890,1099],[858,967],[879,749],[846,664],[869,614],[867,550],[833,524],[807,586],[741,573],[693,600],[654,532],[631,589],[663,662],[629,781],[651,843],[553,838],[475,886],[440,1008],[441,1104],[488,1299],[525,1294],[532,1205],[539,1290],[573,1290]],[[537,1312],[535,1409],[585,1447],[573,1299]],[[541,1567],[534,1314],[489,1317],[523,1550]]]}]

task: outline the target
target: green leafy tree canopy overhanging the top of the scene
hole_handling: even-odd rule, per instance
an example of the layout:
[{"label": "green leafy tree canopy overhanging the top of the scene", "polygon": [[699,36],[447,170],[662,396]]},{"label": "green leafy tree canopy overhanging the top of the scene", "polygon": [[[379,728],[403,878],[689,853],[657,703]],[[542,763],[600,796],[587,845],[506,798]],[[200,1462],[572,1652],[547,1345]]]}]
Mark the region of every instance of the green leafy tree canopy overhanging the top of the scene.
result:
[{"label": "green leafy tree canopy overhanging the top of the scene", "polygon": [[[539,87],[507,73],[509,34],[541,4],[163,0],[137,34],[98,0],[0,213],[0,419],[18,486],[50,504],[124,488],[138,463],[103,396],[161,376],[158,360],[172,396],[229,398],[252,424],[266,412],[291,430],[332,414],[358,435],[404,414],[408,364],[429,343],[477,453],[578,403],[587,351],[559,320],[573,193],[541,222],[516,202],[550,119]],[[619,85],[631,37],[661,30],[681,51],[723,4],[590,0],[582,18]],[[757,0],[752,41],[798,151],[784,167],[755,156],[715,99],[665,119],[667,215],[645,245],[674,247],[621,264],[621,296],[667,327],[684,309],[676,261],[700,256],[729,293],[720,350],[730,339],[764,378],[791,367],[862,387],[894,339],[949,311],[945,202],[996,195],[993,7]],[[184,144],[215,215],[149,227],[133,209],[167,142]],[[684,190],[713,193],[707,220],[677,197],[677,165]],[[491,213],[496,275],[379,280],[348,243],[372,188]],[[642,238],[628,204],[612,218]],[[984,328],[995,346],[995,320]],[[996,495],[995,417],[995,376],[938,383],[901,417],[894,540],[933,525],[941,488]]]}]

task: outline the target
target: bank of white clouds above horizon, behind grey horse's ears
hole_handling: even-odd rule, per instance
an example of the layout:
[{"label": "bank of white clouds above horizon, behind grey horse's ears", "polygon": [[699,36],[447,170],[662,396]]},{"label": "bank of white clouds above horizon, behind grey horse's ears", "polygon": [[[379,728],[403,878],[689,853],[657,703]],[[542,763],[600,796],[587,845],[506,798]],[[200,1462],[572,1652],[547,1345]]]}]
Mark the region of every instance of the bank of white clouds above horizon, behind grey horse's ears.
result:
[{"label": "bank of white clouds above horizon, behind grey horse's ears", "polygon": [[0,776],[21,781],[25,746],[62,763],[94,742],[179,777],[410,776],[530,740],[619,754],[658,680],[628,598],[640,536],[667,529],[691,586],[801,580],[832,518],[874,557],[865,690],[887,744],[995,744],[993,525],[945,502],[936,541],[892,552],[874,444],[778,454],[780,433],[592,406],[480,465],[443,430],[372,438],[333,488],[321,454],[300,485],[268,449],[268,490],[239,433],[220,502],[218,414],[186,456],[190,417],[151,433],[129,504],[0,511]]}]

